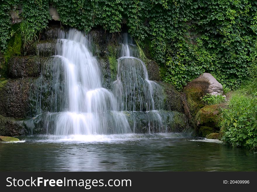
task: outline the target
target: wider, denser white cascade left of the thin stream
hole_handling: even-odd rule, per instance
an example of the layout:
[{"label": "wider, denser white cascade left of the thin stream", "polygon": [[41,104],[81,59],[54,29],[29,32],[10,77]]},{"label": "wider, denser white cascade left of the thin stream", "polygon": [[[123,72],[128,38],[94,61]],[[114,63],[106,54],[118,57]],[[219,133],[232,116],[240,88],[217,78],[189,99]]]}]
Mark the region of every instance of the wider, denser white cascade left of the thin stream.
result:
[{"label": "wider, denser white cascade left of the thin stream", "polygon": [[[51,81],[50,112],[39,114],[48,133],[55,135],[93,135],[129,133],[126,116],[117,111],[112,92],[102,87],[98,61],[89,51],[88,36],[70,29],[61,32],[56,45]],[[39,78],[39,94],[47,76],[47,67]],[[37,106],[41,106],[41,96]],[[41,109],[38,110],[42,112]],[[52,131],[51,131],[52,130]]]}]

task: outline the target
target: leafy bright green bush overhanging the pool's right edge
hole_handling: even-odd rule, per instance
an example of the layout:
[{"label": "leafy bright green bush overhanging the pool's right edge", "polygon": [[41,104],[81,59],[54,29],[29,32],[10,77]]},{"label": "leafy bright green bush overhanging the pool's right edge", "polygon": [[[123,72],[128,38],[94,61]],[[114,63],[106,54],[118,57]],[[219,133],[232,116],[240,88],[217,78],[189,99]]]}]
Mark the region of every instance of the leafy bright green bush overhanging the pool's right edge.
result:
[{"label": "leafy bright green bush overhanging the pool's right edge", "polygon": [[221,140],[232,145],[257,148],[257,95],[248,105],[223,110]]}]

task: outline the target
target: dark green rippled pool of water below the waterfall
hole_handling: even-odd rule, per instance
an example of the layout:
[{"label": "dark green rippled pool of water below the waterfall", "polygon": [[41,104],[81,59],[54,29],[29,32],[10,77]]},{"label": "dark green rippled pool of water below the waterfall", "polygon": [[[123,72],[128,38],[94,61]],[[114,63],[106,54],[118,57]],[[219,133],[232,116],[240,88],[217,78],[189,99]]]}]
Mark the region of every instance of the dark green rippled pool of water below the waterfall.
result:
[{"label": "dark green rippled pool of water below the waterfall", "polygon": [[257,171],[254,152],[176,133],[20,139],[0,142],[0,171]]}]

